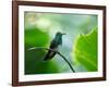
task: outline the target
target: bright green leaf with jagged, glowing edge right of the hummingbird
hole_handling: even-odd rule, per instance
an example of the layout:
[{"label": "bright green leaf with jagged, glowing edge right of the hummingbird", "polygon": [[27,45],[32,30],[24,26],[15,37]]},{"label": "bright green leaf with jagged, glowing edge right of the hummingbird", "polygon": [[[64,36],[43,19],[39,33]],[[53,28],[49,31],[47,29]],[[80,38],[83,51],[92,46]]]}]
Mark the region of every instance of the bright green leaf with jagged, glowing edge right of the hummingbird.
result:
[{"label": "bright green leaf with jagged, glowing edge right of the hummingbird", "polygon": [[97,71],[97,28],[76,38],[73,55],[75,63],[82,64],[89,72]]}]

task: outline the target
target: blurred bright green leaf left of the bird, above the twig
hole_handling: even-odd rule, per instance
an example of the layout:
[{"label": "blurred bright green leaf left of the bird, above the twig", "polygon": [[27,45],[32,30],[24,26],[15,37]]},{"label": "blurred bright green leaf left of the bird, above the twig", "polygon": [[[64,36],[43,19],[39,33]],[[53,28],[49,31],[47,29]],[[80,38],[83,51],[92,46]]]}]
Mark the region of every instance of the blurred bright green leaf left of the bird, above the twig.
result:
[{"label": "blurred bright green leaf left of the bird, above the twig", "polygon": [[25,29],[25,45],[26,46],[33,46],[33,47],[46,46],[48,40],[49,40],[48,34],[41,32],[38,28]]}]

